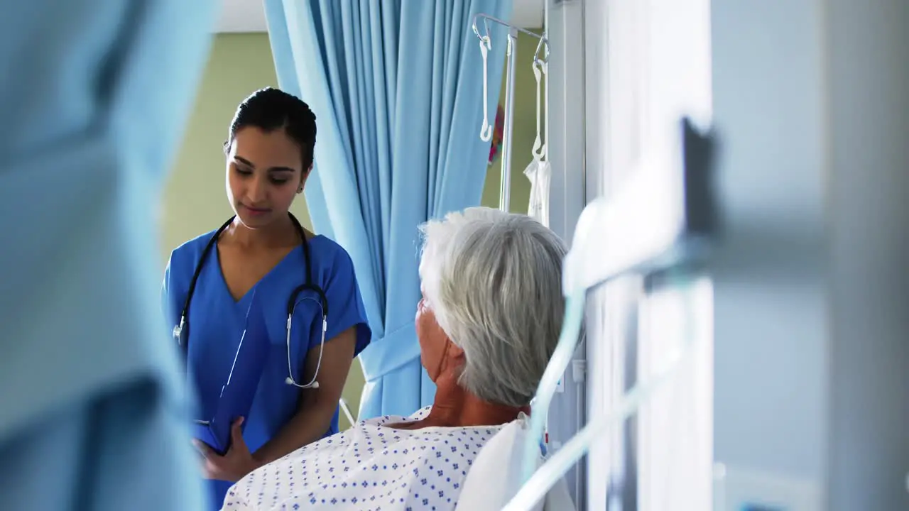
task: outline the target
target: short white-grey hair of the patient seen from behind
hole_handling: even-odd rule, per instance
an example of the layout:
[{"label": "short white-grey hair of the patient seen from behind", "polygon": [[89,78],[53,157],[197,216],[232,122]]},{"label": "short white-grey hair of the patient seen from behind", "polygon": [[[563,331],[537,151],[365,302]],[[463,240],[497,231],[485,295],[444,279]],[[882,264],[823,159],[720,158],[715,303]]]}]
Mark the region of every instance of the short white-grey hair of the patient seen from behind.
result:
[{"label": "short white-grey hair of the patient seen from behind", "polygon": [[564,242],[527,215],[487,207],[421,231],[425,305],[464,350],[460,385],[488,402],[527,405],[562,327]]}]

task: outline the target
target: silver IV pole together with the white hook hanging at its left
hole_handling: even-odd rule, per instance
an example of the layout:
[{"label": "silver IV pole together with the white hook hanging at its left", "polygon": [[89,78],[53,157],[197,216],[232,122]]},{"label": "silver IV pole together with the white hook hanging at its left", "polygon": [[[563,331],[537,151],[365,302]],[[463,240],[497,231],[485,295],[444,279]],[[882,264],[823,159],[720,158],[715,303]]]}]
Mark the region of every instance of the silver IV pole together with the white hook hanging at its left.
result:
[{"label": "silver IV pole together with the white hook hanging at its left", "polygon": [[[477,20],[483,18],[485,33],[480,34],[479,28],[476,26]],[[492,137],[492,126],[489,125],[489,117],[486,115],[488,105],[487,105],[487,88],[488,84],[486,83],[486,54],[492,48],[492,38],[489,36],[489,23],[494,22],[499,25],[503,25],[508,28],[508,51],[507,51],[507,71],[505,78],[505,122],[504,122],[504,133],[502,135],[502,183],[499,190],[499,209],[502,211],[508,211],[508,207],[511,202],[511,145],[512,145],[512,132],[514,129],[514,62],[517,58],[517,35],[518,33],[523,33],[526,35],[531,35],[539,39],[539,43],[536,45],[536,52],[534,53],[534,63],[544,63],[546,59],[549,58],[549,42],[546,40],[545,34],[534,34],[529,30],[520,28],[509,23],[506,23],[498,18],[495,18],[491,15],[485,15],[479,13],[474,15],[474,21],[471,25],[474,34],[477,38],[480,39],[480,51],[483,54],[483,127],[480,129],[480,139],[483,141],[488,141]],[[541,52],[543,55],[541,57]],[[548,115],[548,102],[546,112]],[[539,129],[537,130],[539,132]]]}]

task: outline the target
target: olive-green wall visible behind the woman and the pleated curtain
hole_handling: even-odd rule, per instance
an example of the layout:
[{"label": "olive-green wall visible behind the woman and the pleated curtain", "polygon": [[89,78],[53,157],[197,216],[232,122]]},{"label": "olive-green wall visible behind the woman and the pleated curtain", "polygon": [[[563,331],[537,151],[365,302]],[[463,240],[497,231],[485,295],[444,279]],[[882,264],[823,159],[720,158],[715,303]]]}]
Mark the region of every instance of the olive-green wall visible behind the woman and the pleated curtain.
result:
[{"label": "olive-green wall visible behind the woman and the pleated curtain", "polygon": [[[525,35],[519,38],[518,55],[521,63],[526,64],[515,69],[514,100],[517,106],[514,112],[510,209],[520,213],[526,213],[530,195],[530,183],[524,177],[524,167],[532,159],[531,148],[536,129],[536,91],[530,66],[535,48],[532,38]],[[236,105],[254,90],[265,86],[277,86],[268,36],[216,35],[195,98],[194,111],[186,126],[183,145],[165,188],[161,209],[163,261],[176,246],[214,229],[231,215],[225,193],[222,145]],[[504,104],[504,84],[501,102]],[[476,126],[477,136],[479,130],[480,126]],[[498,205],[499,169],[497,157],[486,175],[483,205]],[[307,228],[312,227],[302,195],[297,198],[293,211]],[[359,407],[363,386],[363,371],[359,362],[355,361],[344,392],[345,400],[354,413]],[[341,426],[346,427],[343,417],[341,422]]]}]

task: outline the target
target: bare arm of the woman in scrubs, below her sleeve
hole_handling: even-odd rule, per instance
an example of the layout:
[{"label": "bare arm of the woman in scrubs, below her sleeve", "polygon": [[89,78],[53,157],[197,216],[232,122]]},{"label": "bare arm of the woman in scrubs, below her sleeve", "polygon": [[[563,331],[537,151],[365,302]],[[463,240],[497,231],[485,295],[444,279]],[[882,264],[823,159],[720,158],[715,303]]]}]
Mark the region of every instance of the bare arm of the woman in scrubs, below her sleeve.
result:
[{"label": "bare arm of the woman in scrubs, below her sleeve", "polygon": [[[296,414],[265,446],[255,451],[253,457],[257,466],[271,463],[325,435],[341,399],[347,373],[354,360],[355,346],[356,326],[325,341],[325,353],[316,378],[319,387],[300,390]],[[305,377],[301,378],[301,382],[312,380],[318,361],[319,346],[314,346],[306,354]]]}]

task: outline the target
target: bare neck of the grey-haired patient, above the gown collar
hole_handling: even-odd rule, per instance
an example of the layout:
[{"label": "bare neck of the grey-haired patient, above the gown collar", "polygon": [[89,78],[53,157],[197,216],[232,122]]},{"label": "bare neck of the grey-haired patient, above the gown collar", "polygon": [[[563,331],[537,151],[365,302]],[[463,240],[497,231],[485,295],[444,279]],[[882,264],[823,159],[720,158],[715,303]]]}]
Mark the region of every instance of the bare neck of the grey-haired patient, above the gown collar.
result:
[{"label": "bare neck of the grey-haired patient, above the gown collar", "polygon": [[435,386],[435,401],[428,416],[414,423],[392,427],[419,429],[431,426],[498,426],[513,421],[521,412],[530,413],[530,408],[526,406],[495,405],[484,401],[457,385],[457,378],[453,375],[439,376]]}]

